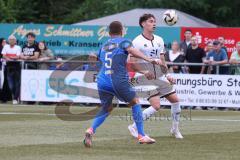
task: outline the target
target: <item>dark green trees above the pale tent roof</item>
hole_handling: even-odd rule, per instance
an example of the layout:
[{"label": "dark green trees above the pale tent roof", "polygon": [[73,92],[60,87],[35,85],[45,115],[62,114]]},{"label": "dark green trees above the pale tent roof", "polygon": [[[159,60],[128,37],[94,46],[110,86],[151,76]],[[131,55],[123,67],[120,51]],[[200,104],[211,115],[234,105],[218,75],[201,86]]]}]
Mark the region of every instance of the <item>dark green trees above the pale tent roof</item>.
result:
[{"label": "dark green trees above the pale tent roof", "polygon": [[240,26],[238,0],[0,0],[1,23],[72,24],[134,8],[174,8],[224,27]]}]

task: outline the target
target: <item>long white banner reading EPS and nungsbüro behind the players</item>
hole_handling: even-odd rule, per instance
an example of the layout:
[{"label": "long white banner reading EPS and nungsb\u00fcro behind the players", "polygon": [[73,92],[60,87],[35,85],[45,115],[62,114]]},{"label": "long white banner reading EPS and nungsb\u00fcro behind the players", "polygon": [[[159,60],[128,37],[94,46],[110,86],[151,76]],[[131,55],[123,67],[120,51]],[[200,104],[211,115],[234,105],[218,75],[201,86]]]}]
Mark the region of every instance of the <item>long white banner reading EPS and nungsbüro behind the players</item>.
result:
[{"label": "long white banner reading EPS and nungsb\u00fcro behind the players", "polygon": [[[92,82],[84,80],[86,71],[22,70],[21,100],[61,102],[71,100],[78,103],[99,103],[96,74]],[[67,73],[67,74],[66,74]],[[174,74],[175,89],[184,106],[240,107],[240,77],[234,75]],[[137,77],[136,77],[137,78]],[[53,85],[50,85],[53,84]],[[68,86],[70,85],[70,86]],[[82,91],[84,87],[85,90]],[[68,88],[68,89],[67,89]],[[90,89],[90,90],[87,90]],[[138,86],[138,91],[141,86]],[[142,90],[152,86],[142,86]],[[63,92],[66,90],[66,92]],[[86,96],[92,92],[94,96]],[[147,97],[140,97],[142,104],[148,104]],[[162,105],[168,105],[161,99]]]}]

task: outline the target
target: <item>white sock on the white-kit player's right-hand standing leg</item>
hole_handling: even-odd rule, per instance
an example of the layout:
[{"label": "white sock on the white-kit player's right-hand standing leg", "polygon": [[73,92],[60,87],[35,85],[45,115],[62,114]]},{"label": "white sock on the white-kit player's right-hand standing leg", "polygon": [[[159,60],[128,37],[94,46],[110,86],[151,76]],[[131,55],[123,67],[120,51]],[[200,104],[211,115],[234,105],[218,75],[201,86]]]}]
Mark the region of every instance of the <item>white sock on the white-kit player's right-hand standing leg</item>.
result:
[{"label": "white sock on the white-kit player's right-hand standing leg", "polygon": [[172,103],[171,105],[171,115],[172,115],[172,128],[178,129],[178,124],[180,121],[181,107],[179,102]]}]

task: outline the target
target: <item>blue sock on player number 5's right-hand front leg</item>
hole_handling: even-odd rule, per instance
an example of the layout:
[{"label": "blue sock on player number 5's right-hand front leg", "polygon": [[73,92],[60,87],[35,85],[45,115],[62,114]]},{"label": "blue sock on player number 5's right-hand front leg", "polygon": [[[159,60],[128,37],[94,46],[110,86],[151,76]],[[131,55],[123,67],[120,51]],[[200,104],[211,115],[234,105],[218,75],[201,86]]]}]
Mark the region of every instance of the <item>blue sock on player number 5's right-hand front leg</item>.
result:
[{"label": "blue sock on player number 5's right-hand front leg", "polygon": [[143,117],[142,117],[142,110],[141,110],[140,104],[135,104],[132,107],[132,115],[137,126],[138,134],[145,136],[143,131]]}]

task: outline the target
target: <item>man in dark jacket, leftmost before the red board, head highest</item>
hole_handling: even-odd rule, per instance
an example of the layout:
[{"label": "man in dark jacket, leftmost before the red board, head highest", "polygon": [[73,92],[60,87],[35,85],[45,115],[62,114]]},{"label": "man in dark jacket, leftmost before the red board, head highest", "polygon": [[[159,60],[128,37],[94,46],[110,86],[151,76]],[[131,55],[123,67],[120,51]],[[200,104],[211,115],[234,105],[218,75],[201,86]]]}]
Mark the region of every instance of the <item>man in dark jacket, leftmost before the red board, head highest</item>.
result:
[{"label": "man in dark jacket, leftmost before the red board, head highest", "polygon": [[186,55],[187,49],[191,47],[192,30],[186,29],[184,32],[184,40],[180,43],[180,50]]}]

